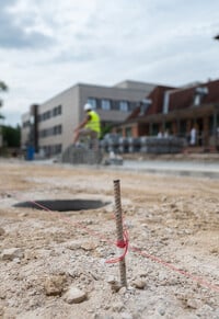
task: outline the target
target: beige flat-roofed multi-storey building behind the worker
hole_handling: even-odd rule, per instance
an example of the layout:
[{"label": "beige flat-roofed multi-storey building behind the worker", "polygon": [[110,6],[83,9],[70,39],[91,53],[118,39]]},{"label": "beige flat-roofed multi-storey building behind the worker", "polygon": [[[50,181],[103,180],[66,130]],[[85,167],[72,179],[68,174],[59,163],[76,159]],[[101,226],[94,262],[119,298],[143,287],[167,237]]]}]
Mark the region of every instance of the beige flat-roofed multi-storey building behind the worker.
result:
[{"label": "beige flat-roofed multi-storey building behind the worker", "polygon": [[62,152],[72,144],[73,129],[83,119],[89,102],[101,116],[102,132],[123,123],[157,84],[123,81],[114,87],[78,83],[22,116],[22,147],[34,146],[46,156]]}]

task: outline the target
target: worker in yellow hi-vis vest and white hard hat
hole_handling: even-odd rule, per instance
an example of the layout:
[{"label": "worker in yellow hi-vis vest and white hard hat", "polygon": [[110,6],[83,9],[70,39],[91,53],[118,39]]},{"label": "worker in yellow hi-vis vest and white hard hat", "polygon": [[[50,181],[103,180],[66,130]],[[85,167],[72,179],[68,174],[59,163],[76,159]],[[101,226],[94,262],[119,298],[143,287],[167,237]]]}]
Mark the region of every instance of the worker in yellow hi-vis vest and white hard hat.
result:
[{"label": "worker in yellow hi-vis vest and white hard hat", "polygon": [[99,114],[92,110],[91,104],[83,106],[87,113],[85,118],[74,128],[73,145],[77,145],[81,136],[89,136],[91,143],[97,148],[97,140],[101,135],[101,121]]}]

